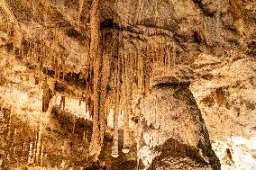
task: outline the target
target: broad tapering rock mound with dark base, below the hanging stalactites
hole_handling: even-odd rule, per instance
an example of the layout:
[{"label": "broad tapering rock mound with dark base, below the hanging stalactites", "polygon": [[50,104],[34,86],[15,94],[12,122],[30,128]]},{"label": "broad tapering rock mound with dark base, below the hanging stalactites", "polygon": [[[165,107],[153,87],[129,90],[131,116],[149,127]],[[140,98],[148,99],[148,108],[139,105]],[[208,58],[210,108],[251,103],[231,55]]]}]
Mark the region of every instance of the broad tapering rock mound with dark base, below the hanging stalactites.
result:
[{"label": "broad tapering rock mound with dark base, below the hanging stalactites", "polygon": [[142,169],[220,169],[187,84],[154,85],[141,114],[138,159]]}]

